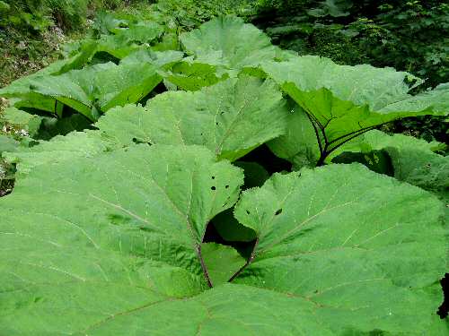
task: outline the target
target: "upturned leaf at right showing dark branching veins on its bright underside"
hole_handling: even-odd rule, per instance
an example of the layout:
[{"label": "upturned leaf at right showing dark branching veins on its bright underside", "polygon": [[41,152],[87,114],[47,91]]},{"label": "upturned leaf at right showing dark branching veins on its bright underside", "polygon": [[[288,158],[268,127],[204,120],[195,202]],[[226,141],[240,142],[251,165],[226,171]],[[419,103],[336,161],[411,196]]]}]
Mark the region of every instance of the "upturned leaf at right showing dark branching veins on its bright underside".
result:
[{"label": "upturned leaf at right showing dark branching veins on its bright underside", "polygon": [[262,69],[304,108],[319,135],[321,162],[357,134],[405,116],[445,115],[449,86],[412,96],[419,82],[409,73],[371,65],[336,65],[328,58],[301,56],[266,62]]}]

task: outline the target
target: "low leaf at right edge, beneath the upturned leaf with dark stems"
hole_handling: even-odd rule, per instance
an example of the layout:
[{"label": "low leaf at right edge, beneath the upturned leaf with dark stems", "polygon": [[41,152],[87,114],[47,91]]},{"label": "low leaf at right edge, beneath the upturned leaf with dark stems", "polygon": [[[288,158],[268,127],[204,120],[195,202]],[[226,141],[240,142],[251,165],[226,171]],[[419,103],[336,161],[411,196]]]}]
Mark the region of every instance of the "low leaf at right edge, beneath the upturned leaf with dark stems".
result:
[{"label": "low leaf at right edge, beneath the upturned leaf with dark stems", "polygon": [[441,142],[426,142],[403,134],[388,135],[373,130],[345,143],[332,153],[330,159],[338,159],[338,155],[345,152],[369,154],[386,151],[394,177],[434,192],[449,202],[449,156],[434,152],[445,147]]}]

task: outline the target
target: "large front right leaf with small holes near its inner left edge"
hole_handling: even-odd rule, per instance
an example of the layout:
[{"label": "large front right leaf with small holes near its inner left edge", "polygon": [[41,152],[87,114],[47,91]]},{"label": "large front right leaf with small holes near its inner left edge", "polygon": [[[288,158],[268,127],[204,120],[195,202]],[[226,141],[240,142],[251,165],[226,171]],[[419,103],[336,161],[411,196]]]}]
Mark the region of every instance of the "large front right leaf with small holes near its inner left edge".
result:
[{"label": "large front right leaf with small holes near its inner left edge", "polygon": [[437,319],[426,289],[445,273],[447,240],[433,195],[331,165],[275,174],[234,213],[258,236],[235,281],[307,297],[335,334],[419,334]]}]

